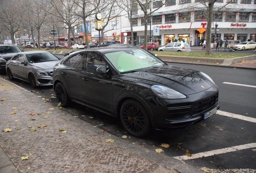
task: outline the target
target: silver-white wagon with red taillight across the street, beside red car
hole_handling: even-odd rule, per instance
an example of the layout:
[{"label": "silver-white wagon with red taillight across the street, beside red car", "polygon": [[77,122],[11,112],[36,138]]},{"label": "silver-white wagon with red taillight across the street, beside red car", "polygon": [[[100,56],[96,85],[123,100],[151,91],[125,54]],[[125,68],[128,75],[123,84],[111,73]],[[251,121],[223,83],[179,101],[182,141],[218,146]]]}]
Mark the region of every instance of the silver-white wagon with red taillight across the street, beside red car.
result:
[{"label": "silver-white wagon with red taillight across the street, beside red car", "polygon": [[190,52],[191,50],[188,43],[171,42],[166,46],[158,48],[158,51]]}]

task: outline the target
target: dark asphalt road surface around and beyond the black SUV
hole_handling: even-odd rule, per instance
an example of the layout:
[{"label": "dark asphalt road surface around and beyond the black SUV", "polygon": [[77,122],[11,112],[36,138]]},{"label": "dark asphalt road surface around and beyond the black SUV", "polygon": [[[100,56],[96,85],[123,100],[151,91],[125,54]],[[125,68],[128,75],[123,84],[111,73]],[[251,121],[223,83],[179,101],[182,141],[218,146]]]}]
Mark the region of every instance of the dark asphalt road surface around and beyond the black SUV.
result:
[{"label": "dark asphalt road surface around and beyond the black SUV", "polygon": [[[220,89],[220,111],[251,117],[254,120],[256,119],[256,88],[223,83],[231,82],[256,86],[255,70],[178,63],[171,63],[171,65],[191,68],[209,74]],[[2,74],[2,77],[8,79],[6,74]],[[54,107],[57,106],[58,103],[56,99],[52,98],[55,96],[52,86],[33,89],[29,83],[23,82],[22,80],[16,79],[12,82],[29,91],[34,90],[36,96],[50,99],[49,103]],[[81,120],[86,121],[87,123],[99,126],[99,128],[107,131],[111,135],[117,137],[128,135],[122,127],[120,120],[109,115],[78,105],[77,103],[72,103],[70,107],[65,108],[64,111],[73,116],[78,116]],[[81,117],[82,115],[85,115],[85,117]],[[202,157],[196,159],[183,160],[185,163],[198,169],[202,167],[218,170],[224,169],[225,171],[228,171],[229,169],[232,171],[239,169],[240,171],[254,173],[256,172],[255,123],[256,122],[215,114],[209,119],[184,131],[162,132],[152,130],[150,135],[143,139],[128,135],[129,138],[126,141],[117,145],[120,145],[129,151],[140,153],[140,151],[130,148],[130,144],[135,143],[141,149],[147,151],[147,153],[141,153],[142,156],[154,161],[157,160],[157,163],[163,166],[168,158],[183,156],[187,152],[195,155],[200,153],[199,155],[202,155]],[[170,145],[169,148],[163,149],[163,155],[165,156],[165,159],[167,159],[163,160],[162,157],[152,158],[151,155],[153,155],[153,153],[155,154],[155,149],[162,148],[160,147],[162,143]],[[244,147],[247,146],[246,144],[254,144],[254,147],[246,148]],[[237,147],[241,145],[242,147]],[[202,154],[219,149],[223,149],[224,151],[230,150],[225,149],[229,147],[238,149],[228,153],[219,152],[219,154],[208,157]]]}]

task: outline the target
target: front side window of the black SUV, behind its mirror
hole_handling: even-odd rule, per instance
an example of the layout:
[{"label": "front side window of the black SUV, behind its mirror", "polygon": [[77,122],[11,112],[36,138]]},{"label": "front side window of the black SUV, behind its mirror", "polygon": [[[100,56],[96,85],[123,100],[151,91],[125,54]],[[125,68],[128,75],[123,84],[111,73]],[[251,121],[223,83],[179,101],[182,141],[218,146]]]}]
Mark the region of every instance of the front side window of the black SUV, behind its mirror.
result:
[{"label": "front side window of the black SUV, behind its mirror", "polygon": [[91,72],[96,72],[96,69],[99,66],[105,66],[105,61],[103,58],[97,53],[88,53],[86,55],[86,70]]}]

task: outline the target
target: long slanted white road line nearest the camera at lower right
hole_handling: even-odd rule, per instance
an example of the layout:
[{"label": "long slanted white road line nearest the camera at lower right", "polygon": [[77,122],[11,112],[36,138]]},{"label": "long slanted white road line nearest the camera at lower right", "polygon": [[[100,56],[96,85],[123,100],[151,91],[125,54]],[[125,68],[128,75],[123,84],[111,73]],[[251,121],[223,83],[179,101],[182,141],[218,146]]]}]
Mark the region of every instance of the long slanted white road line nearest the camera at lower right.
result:
[{"label": "long slanted white road line nearest the camera at lower right", "polygon": [[206,152],[202,152],[202,153],[196,153],[196,154],[192,154],[191,157],[187,156],[187,155],[183,155],[183,156],[177,156],[177,157],[173,157],[174,159],[178,159],[178,160],[190,160],[190,159],[198,159],[201,157],[208,157],[208,156],[213,156],[213,155],[218,155],[218,154],[223,154],[223,153],[229,153],[232,151],[239,151],[239,150],[243,150],[243,149],[249,149],[249,148],[255,148],[256,147],[256,143],[250,143],[250,144],[245,144],[245,145],[238,145],[238,146],[234,146],[234,147],[228,147],[228,148],[224,148],[224,149],[217,149],[217,150],[212,150],[212,151],[206,151]]}]

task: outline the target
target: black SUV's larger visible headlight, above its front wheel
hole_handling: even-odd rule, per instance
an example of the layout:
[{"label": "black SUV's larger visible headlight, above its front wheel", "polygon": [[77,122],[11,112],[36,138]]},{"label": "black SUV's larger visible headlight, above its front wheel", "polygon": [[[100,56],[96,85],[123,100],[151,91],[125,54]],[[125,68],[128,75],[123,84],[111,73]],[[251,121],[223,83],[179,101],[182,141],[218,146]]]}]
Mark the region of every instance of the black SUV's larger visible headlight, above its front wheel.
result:
[{"label": "black SUV's larger visible headlight, above its front wheel", "polygon": [[158,97],[160,97],[162,99],[184,99],[184,98],[186,98],[186,96],[183,95],[182,93],[179,93],[178,91],[175,91],[168,87],[153,85],[151,87],[151,89]]}]

